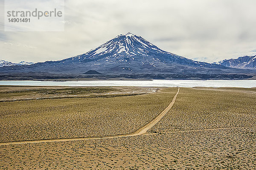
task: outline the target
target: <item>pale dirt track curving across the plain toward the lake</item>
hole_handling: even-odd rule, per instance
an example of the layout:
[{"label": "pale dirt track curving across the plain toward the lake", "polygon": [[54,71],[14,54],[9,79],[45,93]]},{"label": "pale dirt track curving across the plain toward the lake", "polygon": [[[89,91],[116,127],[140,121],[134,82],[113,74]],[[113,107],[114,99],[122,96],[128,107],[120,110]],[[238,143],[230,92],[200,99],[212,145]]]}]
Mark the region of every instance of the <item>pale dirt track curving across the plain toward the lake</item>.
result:
[{"label": "pale dirt track curving across the plain toward the lake", "polygon": [[165,108],[155,119],[151,122],[148,122],[145,126],[141,127],[140,129],[136,130],[133,133],[126,133],[121,135],[113,135],[113,136],[96,136],[96,137],[85,137],[85,138],[65,138],[65,139],[41,139],[41,140],[31,140],[31,141],[17,141],[17,142],[3,142],[0,145],[9,145],[9,144],[30,144],[30,143],[42,143],[42,142],[64,142],[64,141],[77,141],[77,140],[90,140],[90,139],[109,139],[109,138],[119,138],[119,137],[128,137],[128,136],[139,136],[143,135],[147,132],[147,130],[151,129],[154,125],[159,122],[163,116],[172,108],[175,103],[175,99],[179,94],[180,88],[178,88],[177,93],[172,99],[172,102]]}]

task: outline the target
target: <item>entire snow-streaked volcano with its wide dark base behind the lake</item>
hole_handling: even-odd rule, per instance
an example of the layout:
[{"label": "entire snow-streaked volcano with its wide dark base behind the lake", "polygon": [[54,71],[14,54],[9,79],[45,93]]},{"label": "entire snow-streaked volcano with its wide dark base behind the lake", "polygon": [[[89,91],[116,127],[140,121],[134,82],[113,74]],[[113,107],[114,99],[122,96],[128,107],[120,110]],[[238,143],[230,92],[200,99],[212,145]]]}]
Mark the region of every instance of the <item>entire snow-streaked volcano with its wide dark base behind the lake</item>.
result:
[{"label": "entire snow-streaked volcano with its wide dark base behind the lake", "polygon": [[[256,71],[198,62],[163,51],[140,36],[120,34],[60,61],[0,68],[0,79],[248,79]],[[28,74],[29,73],[29,74]]]}]

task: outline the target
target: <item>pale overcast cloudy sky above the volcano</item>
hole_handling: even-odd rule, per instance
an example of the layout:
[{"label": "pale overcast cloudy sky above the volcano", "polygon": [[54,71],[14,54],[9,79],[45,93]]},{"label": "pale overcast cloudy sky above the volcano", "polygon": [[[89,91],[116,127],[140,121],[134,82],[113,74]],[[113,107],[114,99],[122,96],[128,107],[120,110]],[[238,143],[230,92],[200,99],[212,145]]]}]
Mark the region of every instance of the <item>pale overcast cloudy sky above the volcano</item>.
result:
[{"label": "pale overcast cloudy sky above the volcano", "polygon": [[66,0],[59,32],[3,31],[0,6],[0,59],[11,62],[69,58],[127,32],[198,61],[256,55],[256,0]]}]

